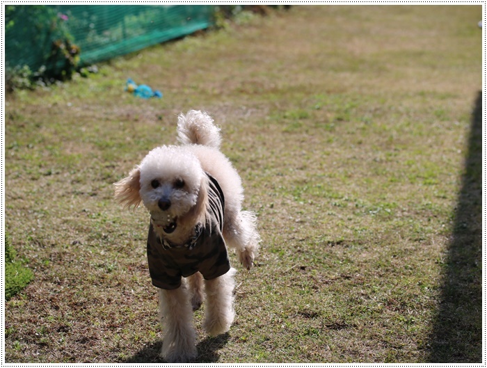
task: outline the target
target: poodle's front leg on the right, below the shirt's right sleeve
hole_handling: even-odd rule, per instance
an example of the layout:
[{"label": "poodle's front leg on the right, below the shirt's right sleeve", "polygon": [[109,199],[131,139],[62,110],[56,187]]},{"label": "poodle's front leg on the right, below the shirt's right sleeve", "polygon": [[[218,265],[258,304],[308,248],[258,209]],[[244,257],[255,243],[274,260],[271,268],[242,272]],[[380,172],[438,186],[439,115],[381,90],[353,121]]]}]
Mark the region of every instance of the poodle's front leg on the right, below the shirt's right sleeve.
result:
[{"label": "poodle's front leg on the right, below the shirt's right sleeve", "polygon": [[233,310],[235,273],[237,273],[235,269],[230,269],[225,275],[213,280],[205,280],[207,300],[203,329],[211,336],[226,333],[232,326],[235,317]]}]

